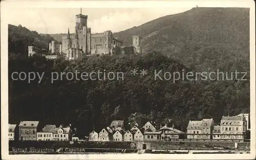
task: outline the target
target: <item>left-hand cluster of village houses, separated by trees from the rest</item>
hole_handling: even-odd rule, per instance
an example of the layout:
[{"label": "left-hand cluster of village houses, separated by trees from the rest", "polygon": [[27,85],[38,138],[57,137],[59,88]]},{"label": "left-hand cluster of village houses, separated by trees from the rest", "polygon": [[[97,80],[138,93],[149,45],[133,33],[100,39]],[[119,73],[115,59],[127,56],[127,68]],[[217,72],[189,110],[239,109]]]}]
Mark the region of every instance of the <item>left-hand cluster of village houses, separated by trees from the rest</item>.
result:
[{"label": "left-hand cluster of village houses, separated by trees from the rest", "polygon": [[20,141],[72,141],[76,129],[71,125],[45,125],[41,127],[39,121],[21,121],[19,125],[9,124],[9,140]]}]

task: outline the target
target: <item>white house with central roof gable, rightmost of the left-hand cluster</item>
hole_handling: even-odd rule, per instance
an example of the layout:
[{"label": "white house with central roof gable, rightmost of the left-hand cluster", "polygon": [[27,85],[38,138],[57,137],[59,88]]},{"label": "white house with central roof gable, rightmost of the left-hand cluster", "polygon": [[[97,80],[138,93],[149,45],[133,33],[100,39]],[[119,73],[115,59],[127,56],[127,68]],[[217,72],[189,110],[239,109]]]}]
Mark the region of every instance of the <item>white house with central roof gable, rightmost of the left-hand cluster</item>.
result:
[{"label": "white house with central roof gable, rightmost of the left-hand cluster", "polygon": [[72,139],[72,133],[69,126],[62,127],[61,125],[58,128],[55,128],[53,132],[54,141],[70,141]]}]

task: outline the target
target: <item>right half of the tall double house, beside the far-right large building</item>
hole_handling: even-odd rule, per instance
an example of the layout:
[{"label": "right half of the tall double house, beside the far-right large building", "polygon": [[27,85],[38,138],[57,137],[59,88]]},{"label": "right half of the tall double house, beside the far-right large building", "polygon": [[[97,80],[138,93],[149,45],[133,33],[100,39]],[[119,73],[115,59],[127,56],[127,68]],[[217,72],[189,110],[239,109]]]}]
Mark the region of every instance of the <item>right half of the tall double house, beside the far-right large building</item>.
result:
[{"label": "right half of the tall double house, beside the far-right large building", "polygon": [[200,139],[210,139],[210,134],[214,129],[214,120],[211,119],[203,119],[201,122],[201,134]]}]

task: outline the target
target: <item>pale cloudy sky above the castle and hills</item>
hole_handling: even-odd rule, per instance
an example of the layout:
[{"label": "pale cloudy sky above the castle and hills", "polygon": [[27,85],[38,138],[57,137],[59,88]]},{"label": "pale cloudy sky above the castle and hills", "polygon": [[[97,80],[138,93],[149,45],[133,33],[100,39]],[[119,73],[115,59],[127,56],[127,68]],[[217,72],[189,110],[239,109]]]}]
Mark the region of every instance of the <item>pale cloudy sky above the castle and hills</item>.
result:
[{"label": "pale cloudy sky above the castle and hills", "polygon": [[[29,7],[29,6],[27,6]],[[75,31],[75,15],[80,8],[13,8],[8,23],[22,25],[42,34],[71,33]],[[82,8],[88,15],[92,33],[111,30],[113,33],[139,26],[156,18],[177,14],[191,8]],[[24,18],[26,17],[26,18]]]}]

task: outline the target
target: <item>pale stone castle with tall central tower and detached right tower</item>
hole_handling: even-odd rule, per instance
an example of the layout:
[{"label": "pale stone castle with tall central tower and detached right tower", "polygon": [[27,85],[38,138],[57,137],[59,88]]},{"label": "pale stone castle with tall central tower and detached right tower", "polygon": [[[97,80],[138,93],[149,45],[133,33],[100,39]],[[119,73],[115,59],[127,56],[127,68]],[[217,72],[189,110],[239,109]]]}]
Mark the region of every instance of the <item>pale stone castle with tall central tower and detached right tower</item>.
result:
[{"label": "pale stone castle with tall central tower and detached right tower", "polygon": [[[69,60],[80,59],[83,55],[113,55],[123,47],[123,41],[113,37],[112,31],[91,33],[87,26],[87,15],[76,15],[75,33],[62,36],[62,44],[49,43],[49,51],[60,52]],[[139,36],[133,36],[134,52],[141,52]]]}]

